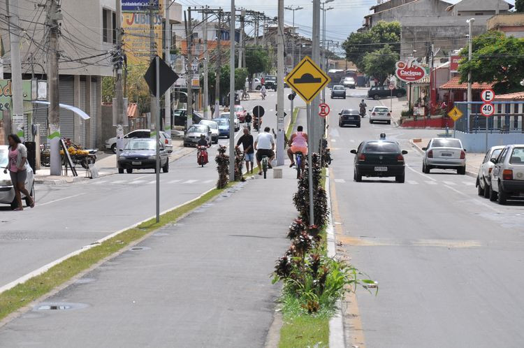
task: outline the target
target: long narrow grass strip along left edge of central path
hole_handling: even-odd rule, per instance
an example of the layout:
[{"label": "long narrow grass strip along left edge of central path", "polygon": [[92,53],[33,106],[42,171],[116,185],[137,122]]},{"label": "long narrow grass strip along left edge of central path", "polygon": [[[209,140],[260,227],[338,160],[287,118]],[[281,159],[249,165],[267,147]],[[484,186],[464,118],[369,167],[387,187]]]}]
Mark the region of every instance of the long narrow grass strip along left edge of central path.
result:
[{"label": "long narrow grass strip along left edge of central path", "polygon": [[19,310],[32,301],[44,296],[52,289],[64,284],[72,277],[87,270],[94,264],[105,259],[115,252],[130,245],[133,241],[143,238],[147,233],[159,229],[166,224],[176,222],[177,219],[184,217],[188,212],[198,208],[203,203],[210,201],[218,196],[233,183],[228,184],[224,189],[214,189],[199,197],[198,199],[181,205],[180,207],[170,210],[160,216],[160,222],[157,224],[155,219],[147,220],[139,226],[127,229],[114,237],[105,240],[100,245],[87,249],[78,255],[71,256],[56,266],[53,266],[45,273],[37,275],[22,284],[17,284],[12,289],[0,293],[0,320],[7,317],[10,313]]}]

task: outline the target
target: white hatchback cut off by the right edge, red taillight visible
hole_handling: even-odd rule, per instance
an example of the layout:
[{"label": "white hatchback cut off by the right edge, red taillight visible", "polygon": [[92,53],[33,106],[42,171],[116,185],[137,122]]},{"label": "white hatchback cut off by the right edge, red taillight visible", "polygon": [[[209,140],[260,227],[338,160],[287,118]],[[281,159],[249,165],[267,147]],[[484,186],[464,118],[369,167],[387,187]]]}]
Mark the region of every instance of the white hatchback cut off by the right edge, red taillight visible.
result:
[{"label": "white hatchback cut off by the right edge, red taillight visible", "polygon": [[524,196],[524,144],[507,145],[493,159],[490,178],[490,201],[506,204],[513,196]]}]

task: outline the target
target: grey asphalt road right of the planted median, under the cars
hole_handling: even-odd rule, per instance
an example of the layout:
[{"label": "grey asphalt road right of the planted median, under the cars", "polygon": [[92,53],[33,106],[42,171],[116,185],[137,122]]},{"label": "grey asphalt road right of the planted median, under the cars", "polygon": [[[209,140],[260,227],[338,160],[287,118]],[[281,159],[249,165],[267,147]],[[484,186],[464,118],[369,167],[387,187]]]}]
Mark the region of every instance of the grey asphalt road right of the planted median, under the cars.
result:
[{"label": "grey asphalt road right of the planted median, under the cars", "polygon": [[[436,131],[363,121],[340,129],[331,117],[330,138],[339,241],[380,284],[378,296],[358,294],[366,347],[522,347],[524,204],[490,203],[476,195],[474,178],[455,171],[421,173],[407,140]],[[349,150],[381,132],[409,151],[405,184],[353,181]]]}]

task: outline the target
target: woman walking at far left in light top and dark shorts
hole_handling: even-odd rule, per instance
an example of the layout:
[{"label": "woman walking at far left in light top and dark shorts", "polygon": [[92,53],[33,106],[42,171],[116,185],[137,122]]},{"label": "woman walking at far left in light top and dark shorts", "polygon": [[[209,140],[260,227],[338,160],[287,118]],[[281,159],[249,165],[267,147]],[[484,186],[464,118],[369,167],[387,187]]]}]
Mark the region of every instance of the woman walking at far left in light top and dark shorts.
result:
[{"label": "woman walking at far left in light top and dark shorts", "polygon": [[15,210],[24,210],[22,208],[22,195],[24,194],[31,202],[29,206],[34,208],[34,199],[25,188],[25,180],[27,178],[27,147],[22,144],[22,140],[16,134],[10,134],[7,137],[8,147],[8,165],[4,168],[3,173],[7,173],[11,177],[11,183],[15,189],[15,200],[18,207]]}]

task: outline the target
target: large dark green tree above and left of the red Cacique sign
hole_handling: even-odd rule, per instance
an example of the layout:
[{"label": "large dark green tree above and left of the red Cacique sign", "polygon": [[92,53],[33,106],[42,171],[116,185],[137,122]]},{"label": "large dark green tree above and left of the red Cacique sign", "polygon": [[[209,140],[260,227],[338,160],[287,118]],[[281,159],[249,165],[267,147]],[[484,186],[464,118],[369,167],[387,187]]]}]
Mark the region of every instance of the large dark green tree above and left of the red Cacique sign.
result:
[{"label": "large dark green tree above and left of the red Cacique sign", "polygon": [[351,33],[342,43],[346,58],[352,61],[359,71],[364,71],[366,53],[379,50],[389,44],[393,52],[400,53],[400,23],[380,21],[369,31]]}]

